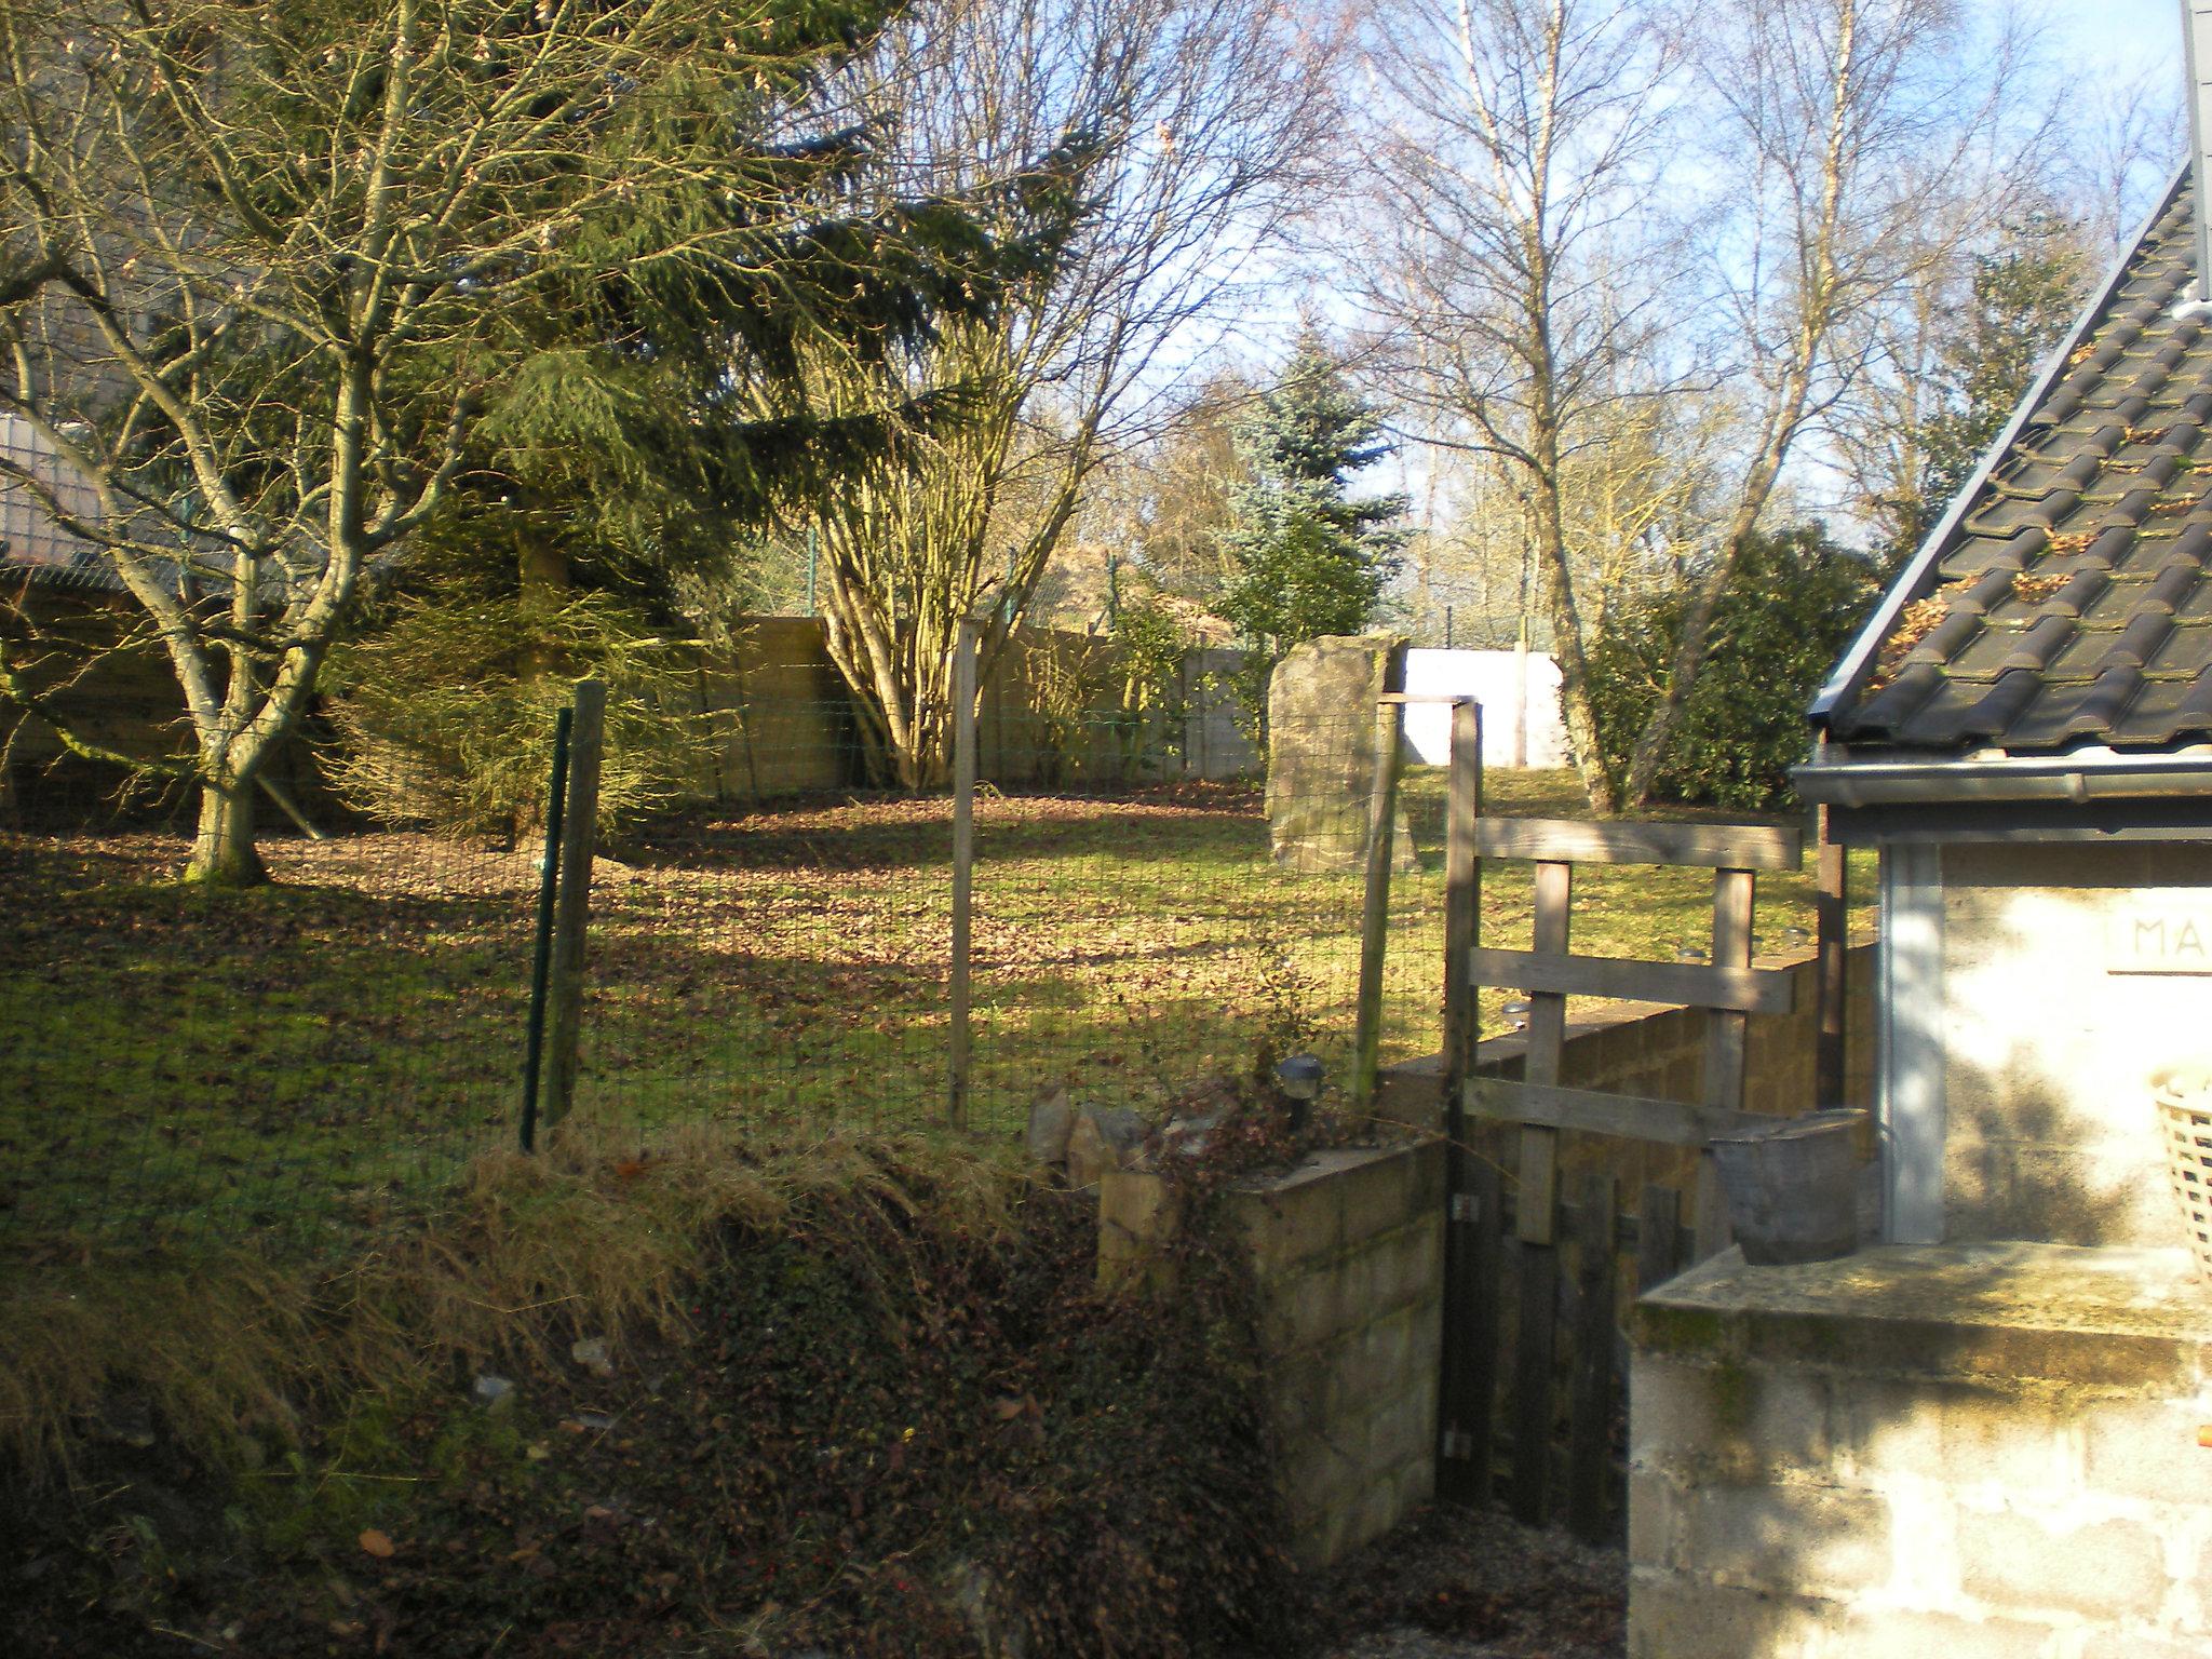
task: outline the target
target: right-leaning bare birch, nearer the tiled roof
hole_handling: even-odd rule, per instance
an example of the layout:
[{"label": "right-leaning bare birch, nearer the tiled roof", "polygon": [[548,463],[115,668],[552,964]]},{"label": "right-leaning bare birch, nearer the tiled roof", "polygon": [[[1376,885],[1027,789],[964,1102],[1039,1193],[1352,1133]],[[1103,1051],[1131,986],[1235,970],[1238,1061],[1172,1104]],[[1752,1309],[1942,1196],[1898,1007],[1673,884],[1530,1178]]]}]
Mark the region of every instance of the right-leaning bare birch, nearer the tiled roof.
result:
[{"label": "right-leaning bare birch, nearer the tiled roof", "polygon": [[1644,801],[1697,684],[1721,593],[1805,434],[1885,349],[1958,241],[2033,179],[2048,115],[2022,119],[2028,40],[1953,0],[1710,0],[1679,20],[1723,179],[1712,299],[1734,334],[1745,438],[1663,695],[1621,794]]}]

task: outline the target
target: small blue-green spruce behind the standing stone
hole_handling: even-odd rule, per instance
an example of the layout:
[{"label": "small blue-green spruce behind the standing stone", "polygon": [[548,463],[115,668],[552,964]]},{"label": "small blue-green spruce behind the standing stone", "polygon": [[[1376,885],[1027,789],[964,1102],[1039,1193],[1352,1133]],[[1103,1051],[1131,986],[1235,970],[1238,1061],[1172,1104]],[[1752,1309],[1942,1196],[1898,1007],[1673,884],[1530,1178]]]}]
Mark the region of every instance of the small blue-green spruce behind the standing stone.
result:
[{"label": "small blue-green spruce behind the standing stone", "polygon": [[1237,427],[1252,478],[1230,504],[1234,575],[1221,615],[1248,653],[1241,690],[1254,721],[1274,664],[1305,639],[1365,628],[1398,568],[1405,495],[1349,495],[1352,478],[1389,453],[1380,431],[1383,414],[1314,336]]}]

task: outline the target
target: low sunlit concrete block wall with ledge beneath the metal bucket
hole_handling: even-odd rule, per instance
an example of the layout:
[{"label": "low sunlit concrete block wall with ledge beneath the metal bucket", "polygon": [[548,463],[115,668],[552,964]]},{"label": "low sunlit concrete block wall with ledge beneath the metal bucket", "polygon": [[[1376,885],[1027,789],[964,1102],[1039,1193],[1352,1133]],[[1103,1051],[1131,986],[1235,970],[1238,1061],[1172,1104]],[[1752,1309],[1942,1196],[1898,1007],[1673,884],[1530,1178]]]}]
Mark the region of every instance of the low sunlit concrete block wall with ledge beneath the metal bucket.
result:
[{"label": "low sunlit concrete block wall with ledge beneath the metal bucket", "polygon": [[1732,1252],[1646,1305],[1630,1659],[2212,1652],[2212,1305],[2188,1329],[2181,1261],[1874,1254],[1825,1305]]}]

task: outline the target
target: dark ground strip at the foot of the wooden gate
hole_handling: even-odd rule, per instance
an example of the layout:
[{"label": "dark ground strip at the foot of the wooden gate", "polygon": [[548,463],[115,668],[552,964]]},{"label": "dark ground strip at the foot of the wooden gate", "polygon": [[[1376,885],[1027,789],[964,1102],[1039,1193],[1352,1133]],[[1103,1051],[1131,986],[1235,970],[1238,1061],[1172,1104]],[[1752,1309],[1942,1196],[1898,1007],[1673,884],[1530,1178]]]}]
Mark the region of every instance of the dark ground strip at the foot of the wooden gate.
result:
[{"label": "dark ground strip at the foot of the wooden gate", "polygon": [[1329,1573],[1325,1659],[1621,1659],[1628,1559],[1431,1509]]}]

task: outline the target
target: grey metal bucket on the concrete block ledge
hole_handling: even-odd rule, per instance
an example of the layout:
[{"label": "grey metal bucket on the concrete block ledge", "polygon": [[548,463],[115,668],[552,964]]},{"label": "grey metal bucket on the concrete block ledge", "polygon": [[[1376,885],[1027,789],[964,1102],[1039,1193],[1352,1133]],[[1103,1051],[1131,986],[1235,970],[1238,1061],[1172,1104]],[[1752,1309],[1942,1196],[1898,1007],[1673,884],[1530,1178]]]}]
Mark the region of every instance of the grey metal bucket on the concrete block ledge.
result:
[{"label": "grey metal bucket on the concrete block ledge", "polygon": [[1712,1141],[1728,1221],[1745,1261],[1834,1261],[1858,1250],[1858,1126],[1865,1119],[1856,1106],[1836,1106]]}]

